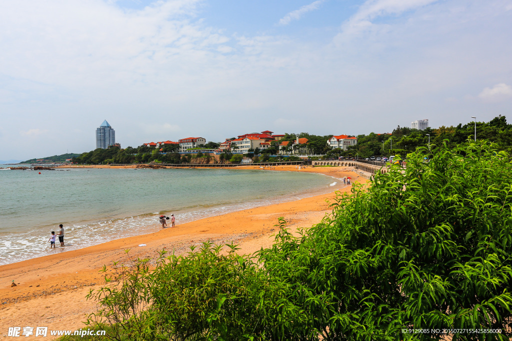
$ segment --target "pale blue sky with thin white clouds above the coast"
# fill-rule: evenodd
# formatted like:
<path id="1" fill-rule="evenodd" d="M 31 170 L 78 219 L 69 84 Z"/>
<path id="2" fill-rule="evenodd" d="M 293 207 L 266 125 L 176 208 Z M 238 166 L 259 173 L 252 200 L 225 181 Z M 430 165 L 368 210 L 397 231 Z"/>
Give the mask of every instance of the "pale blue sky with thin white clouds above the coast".
<path id="1" fill-rule="evenodd" d="M 2 0 L 0 160 L 512 122 L 512 0 Z"/>

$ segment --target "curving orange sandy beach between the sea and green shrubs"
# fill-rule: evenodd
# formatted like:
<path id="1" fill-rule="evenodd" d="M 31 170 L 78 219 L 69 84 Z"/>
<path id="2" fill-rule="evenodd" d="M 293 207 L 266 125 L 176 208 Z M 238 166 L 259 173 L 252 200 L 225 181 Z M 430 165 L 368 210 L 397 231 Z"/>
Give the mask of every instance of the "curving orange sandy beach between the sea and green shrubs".
<path id="1" fill-rule="evenodd" d="M 259 167 L 242 166 L 237 169 L 257 168 Z M 275 170 L 314 172 L 338 179 L 350 176 L 352 182 L 367 181 L 364 177 L 367 175 L 355 171 L 353 167 L 307 167 L 297 170 L 295 166 L 278 166 Z M 148 234 L 141 231 L 141 235 L 136 237 L 69 252 L 64 252 L 66 248 L 63 248 L 61 253 L 0 266 L 0 340 L 18 339 L 7 336 L 8 327 L 67 330 L 83 328 L 82 322 L 86 321 L 87 315 L 96 310 L 96 302 L 86 301 L 86 294 L 90 289 L 103 284 L 99 273 L 103 265 L 112 265 L 113 261 L 129 262 L 125 249 L 130 249 L 129 256 L 132 259 L 157 258 L 161 249 L 183 254 L 189 251 L 191 245 L 200 245 L 210 240 L 216 244 L 233 241 L 240 245 L 240 253 L 252 254 L 261 247 L 272 244 L 272 235 L 276 232 L 274 225 L 278 223 L 279 217 L 284 217 L 288 227 L 293 230 L 310 227 L 330 212 L 327 200 L 335 197 L 334 191 L 351 189 L 350 186 L 344 186 L 343 181 L 333 181 L 337 181 L 337 184 L 328 194 L 232 212 L 186 224 L 177 221 L 174 229 L 166 228 Z M 146 246 L 138 246 L 139 244 Z M 11 287 L 12 283 L 16 283 L 16 286 Z M 52 337 L 48 335 L 30 339 L 49 340 Z"/>

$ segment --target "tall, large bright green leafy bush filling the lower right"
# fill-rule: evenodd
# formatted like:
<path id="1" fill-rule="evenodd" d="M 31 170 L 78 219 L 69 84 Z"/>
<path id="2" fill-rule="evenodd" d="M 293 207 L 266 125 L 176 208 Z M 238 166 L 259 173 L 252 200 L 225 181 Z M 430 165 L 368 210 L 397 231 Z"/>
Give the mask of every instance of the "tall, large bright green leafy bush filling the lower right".
<path id="1" fill-rule="evenodd" d="M 509 339 L 512 165 L 485 143 L 418 149 L 367 191 L 354 185 L 304 234 L 260 261 L 292 285 L 325 339 L 437 339 L 402 329 L 501 329 Z"/>

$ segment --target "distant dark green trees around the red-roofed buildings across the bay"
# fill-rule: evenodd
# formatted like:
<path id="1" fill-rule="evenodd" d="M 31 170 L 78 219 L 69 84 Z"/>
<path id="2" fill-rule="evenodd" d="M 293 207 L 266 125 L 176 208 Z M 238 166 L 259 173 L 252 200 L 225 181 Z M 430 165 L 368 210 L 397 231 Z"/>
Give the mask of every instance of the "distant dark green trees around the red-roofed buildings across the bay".
<path id="1" fill-rule="evenodd" d="M 494 142 L 499 150 L 512 152 L 512 124 L 506 122 L 505 116 L 500 115 L 489 122 L 476 122 L 476 132 L 478 140 L 484 139 Z M 274 158 L 270 158 L 269 155 L 278 154 L 279 145 L 284 141 L 288 141 L 288 146 L 284 148 L 284 151 L 291 153 L 297 149 L 306 148 L 310 154 L 324 154 L 329 158 L 339 156 L 366 158 L 376 155 L 390 156 L 395 154 L 404 157 L 408 153 L 415 151 L 418 147 L 428 147 L 429 144 L 442 145 L 444 140 L 449 141 L 449 146 L 456 146 L 465 143 L 468 137 L 474 139 L 475 124 L 470 122 L 464 125 L 459 124 L 455 127 L 441 126 L 436 129 L 427 128 L 425 130 L 397 126 L 391 133 L 371 132 L 368 135 L 357 135 L 357 145 L 348 146 L 347 150 L 341 150 L 340 148 L 331 149 L 328 146 L 327 142 L 333 135 L 314 135 L 307 132 L 301 132 L 297 135 L 300 139 L 308 139 L 308 142 L 293 146 L 297 136 L 292 133 L 285 133 L 282 140 L 271 141 L 270 148 L 264 151 L 255 148 L 249 150 L 249 153 L 245 156 L 255 159 L 255 162 L 276 161 Z M 208 142 L 200 147 L 216 149 L 219 147 L 219 144 Z M 180 164 L 190 163 L 193 157 L 191 155 L 180 155 L 178 153 L 178 145 L 161 148 L 163 153 L 160 153 L 160 148 L 144 145 L 137 148 L 126 147 L 124 149 L 118 147 L 111 147 L 109 149 L 98 148 L 73 157 L 72 162 L 79 164 L 133 164 L 150 162 Z M 232 151 L 236 152 L 236 147 Z M 231 153 L 227 154 L 221 155 L 221 162 L 240 162 L 240 157 L 233 158 Z M 207 155 L 201 156 L 207 158 Z"/>

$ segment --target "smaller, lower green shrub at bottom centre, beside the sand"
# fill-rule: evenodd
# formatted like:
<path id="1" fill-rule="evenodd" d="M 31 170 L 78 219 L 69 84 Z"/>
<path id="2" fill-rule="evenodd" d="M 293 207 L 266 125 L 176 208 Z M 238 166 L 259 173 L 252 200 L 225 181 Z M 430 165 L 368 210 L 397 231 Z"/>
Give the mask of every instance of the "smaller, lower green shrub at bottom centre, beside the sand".
<path id="1" fill-rule="evenodd" d="M 300 332 L 305 314 L 287 300 L 287 285 L 227 246 L 227 255 L 211 243 L 186 257 L 162 251 L 152 272 L 147 259 L 117 272 L 104 268 L 111 285 L 88 295 L 101 306 L 88 324 L 114 326 L 101 336 L 112 340 L 257 340 Z"/>

